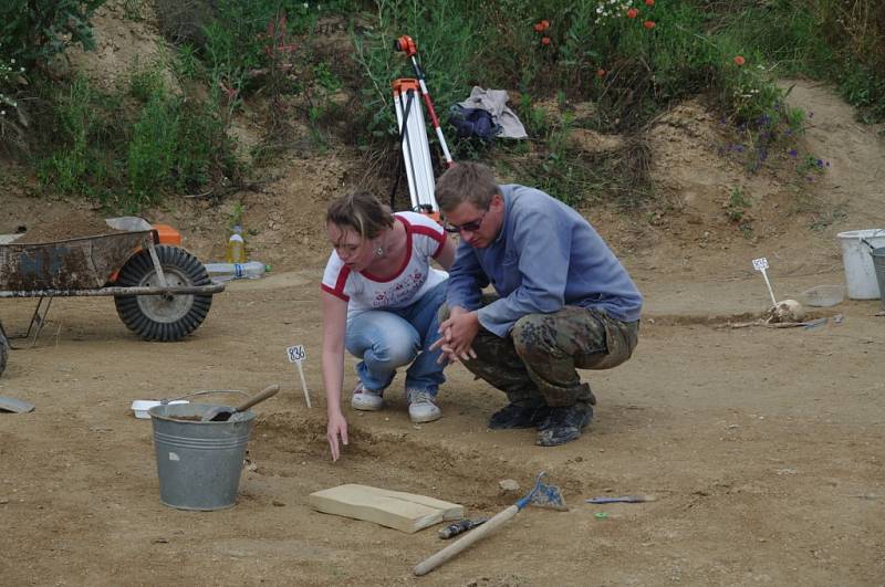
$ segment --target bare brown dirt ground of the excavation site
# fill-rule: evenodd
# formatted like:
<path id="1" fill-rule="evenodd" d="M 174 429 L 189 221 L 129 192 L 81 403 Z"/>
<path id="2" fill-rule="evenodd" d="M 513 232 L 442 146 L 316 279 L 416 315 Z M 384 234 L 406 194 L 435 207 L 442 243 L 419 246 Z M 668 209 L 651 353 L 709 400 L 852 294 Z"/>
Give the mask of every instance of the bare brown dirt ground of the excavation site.
<path id="1" fill-rule="evenodd" d="M 769 305 L 751 260 L 767 256 L 779 298 L 843 283 L 835 234 L 885 227 L 885 141 L 827 88 L 800 83 L 814 112 L 806 140 L 831 166 L 799 190 L 748 178 L 720 158 L 716 120 L 686 104 L 652 129 L 660 201 L 645 216 L 584 210 L 645 295 L 641 343 L 623 366 L 583 375 L 598 398 L 584 436 L 558 448 L 534 431 L 490 431 L 503 396 L 460 366 L 444 418 L 408 420 L 397 379 L 381 412 L 346 408 L 351 444 L 332 463 L 320 375 L 319 283 L 327 200 L 358 181 L 355 158 L 281 161 L 241 195 L 254 259 L 273 271 L 229 284 L 180 343 L 144 343 L 110 298 L 58 298 L 33 348 L 13 350 L 0 396 L 37 405 L 0 413 L 0 514 L 7 585 L 885 585 L 885 317 L 878 301 L 815 310 L 813 329 L 735 327 Z M 23 187 L 24 186 L 24 187 Z M 747 233 L 723 212 L 739 186 Z M 0 233 L 96 213 L 4 187 Z M 204 260 L 223 250 L 232 202 L 181 200 L 152 211 Z M 811 230 L 810 224 L 818 230 Z M 33 301 L 0 301 L 11 334 Z M 832 319 L 842 316 L 841 322 Z M 23 340 L 17 340 L 23 345 Z M 303 344 L 305 406 L 285 347 Z M 352 359 L 347 359 L 353 365 Z M 235 507 L 159 502 L 150 422 L 134 399 L 205 389 L 281 392 L 254 408 Z M 345 387 L 354 385 L 348 370 Z M 220 396 L 235 402 L 236 395 Z M 412 567 L 447 543 L 314 512 L 308 495 L 364 483 L 461 503 L 469 516 L 513 501 L 546 471 L 569 512 L 527 509 L 424 578 Z M 521 493 L 520 492 L 520 493 Z M 598 495 L 653 494 L 591 505 Z M 597 516 L 600 513 L 606 517 Z"/>

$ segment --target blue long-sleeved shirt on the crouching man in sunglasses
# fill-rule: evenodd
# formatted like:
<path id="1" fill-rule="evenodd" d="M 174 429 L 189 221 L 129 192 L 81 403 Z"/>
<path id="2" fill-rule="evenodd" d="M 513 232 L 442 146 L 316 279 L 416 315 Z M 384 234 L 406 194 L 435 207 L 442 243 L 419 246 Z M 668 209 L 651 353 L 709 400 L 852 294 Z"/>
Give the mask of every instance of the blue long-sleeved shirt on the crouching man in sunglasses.
<path id="1" fill-rule="evenodd" d="M 461 241 L 449 270 L 449 307 L 478 310 L 479 323 L 498 336 L 527 314 L 549 314 L 566 305 L 600 310 L 624 322 L 639 319 L 639 291 L 586 219 L 538 189 L 500 189 L 501 231 L 483 249 Z M 480 291 L 490 283 L 500 300 L 480 307 Z"/>

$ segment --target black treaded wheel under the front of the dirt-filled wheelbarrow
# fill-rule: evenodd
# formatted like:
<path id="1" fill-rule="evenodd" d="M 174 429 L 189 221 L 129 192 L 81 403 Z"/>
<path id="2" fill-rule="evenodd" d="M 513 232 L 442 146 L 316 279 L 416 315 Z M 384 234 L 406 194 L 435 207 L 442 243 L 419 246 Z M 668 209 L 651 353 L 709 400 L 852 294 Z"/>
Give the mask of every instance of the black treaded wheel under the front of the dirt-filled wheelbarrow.
<path id="1" fill-rule="evenodd" d="M 184 249 L 156 248 L 163 274 L 170 286 L 210 285 L 202 263 Z M 150 253 L 139 251 L 119 270 L 117 285 L 123 287 L 157 287 L 157 272 Z M 116 295 L 117 314 L 127 328 L 145 340 L 180 340 L 202 324 L 211 295 Z"/>

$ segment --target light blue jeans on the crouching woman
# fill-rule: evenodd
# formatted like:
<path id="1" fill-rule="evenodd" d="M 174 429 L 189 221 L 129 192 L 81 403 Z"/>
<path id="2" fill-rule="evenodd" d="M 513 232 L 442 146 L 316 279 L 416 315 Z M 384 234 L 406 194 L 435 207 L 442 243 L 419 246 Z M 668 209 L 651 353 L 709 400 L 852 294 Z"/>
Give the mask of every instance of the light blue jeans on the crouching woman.
<path id="1" fill-rule="evenodd" d="M 406 307 L 369 310 L 347 321 L 344 345 L 362 359 L 356 375 L 366 389 L 383 390 L 396 369 L 410 363 L 406 389 L 436 396 L 446 380 L 445 365 L 437 363 L 441 352 L 428 348 L 439 338 L 437 311 L 446 301 L 446 287 L 444 281 Z"/>

